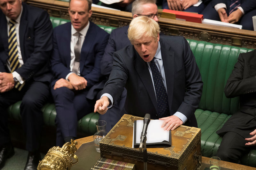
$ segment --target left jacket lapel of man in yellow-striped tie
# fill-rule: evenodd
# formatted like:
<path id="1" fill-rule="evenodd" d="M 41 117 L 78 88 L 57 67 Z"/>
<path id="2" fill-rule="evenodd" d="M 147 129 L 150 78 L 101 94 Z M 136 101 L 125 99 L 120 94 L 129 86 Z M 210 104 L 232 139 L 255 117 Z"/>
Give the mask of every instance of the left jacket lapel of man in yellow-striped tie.
<path id="1" fill-rule="evenodd" d="M 3 63 L 6 63 L 6 60 L 8 59 L 8 33 L 7 33 L 7 21 L 6 21 L 4 14 L 0 18 L 0 23 L 1 23 L 0 24 L 0 30 L 1 30 L 0 38 L 1 38 L 1 41 L 4 46 L 4 51 L 6 52 L 6 55 L 1 56 L 1 60 L 3 61 Z"/>

